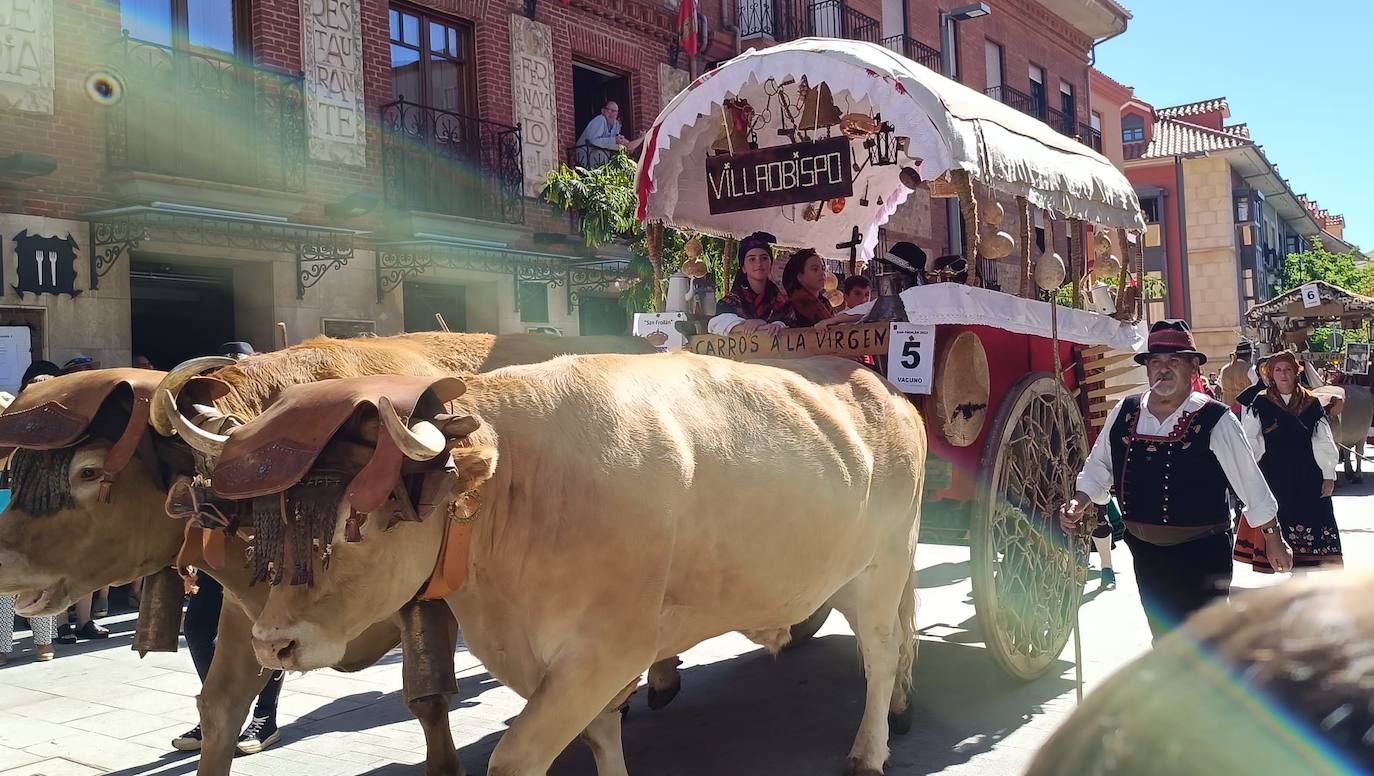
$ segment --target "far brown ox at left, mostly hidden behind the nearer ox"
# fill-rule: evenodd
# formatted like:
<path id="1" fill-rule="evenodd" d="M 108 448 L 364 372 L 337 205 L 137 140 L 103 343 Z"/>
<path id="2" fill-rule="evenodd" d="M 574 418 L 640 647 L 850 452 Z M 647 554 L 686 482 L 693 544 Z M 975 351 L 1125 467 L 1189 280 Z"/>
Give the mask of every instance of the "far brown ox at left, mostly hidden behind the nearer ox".
<path id="1" fill-rule="evenodd" d="M 591 350 L 647 353 L 653 347 L 639 338 L 319 338 L 239 363 L 192 360 L 170 374 L 99 369 L 30 386 L 0 415 L 0 445 L 19 448 L 11 461 L 15 500 L 0 521 L 0 595 L 21 593 L 19 608 L 26 614 L 56 613 L 87 592 L 174 562 L 184 525 L 166 518 L 166 489 L 172 477 L 194 474 L 195 461 L 183 440 L 147 433 L 150 422 L 165 434 L 174 430 L 150 400 L 157 390 L 179 393 L 206 369 L 223 367 L 216 372 L 217 398 L 194 385 L 187 398 L 225 429 L 254 418 L 291 385 L 370 374 L 473 374 Z M 224 584 L 231 606 L 221 611 L 220 647 L 198 698 L 205 733 L 201 776 L 229 772 L 238 732 L 267 678 L 250 647 L 250 618 L 267 593 L 249 585 L 246 547 L 231 540 L 225 551 L 221 567 L 210 570 Z M 338 667 L 367 667 L 398 640 L 397 618 L 382 618 L 349 646 Z M 426 731 L 427 773 L 460 773 L 447 699 L 409 705 Z"/>

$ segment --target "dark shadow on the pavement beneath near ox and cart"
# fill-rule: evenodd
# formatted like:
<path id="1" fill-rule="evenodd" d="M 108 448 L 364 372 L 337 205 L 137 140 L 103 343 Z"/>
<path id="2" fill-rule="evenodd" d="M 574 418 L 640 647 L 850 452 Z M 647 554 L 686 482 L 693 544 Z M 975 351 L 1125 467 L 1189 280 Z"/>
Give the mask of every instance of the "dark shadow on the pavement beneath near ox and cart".
<path id="1" fill-rule="evenodd" d="M 889 772 L 934 773 L 996 746 L 1069 689 L 1068 663 L 1030 684 L 1006 677 L 981 647 L 923 639 L 916 663 L 912 731 L 893 736 Z M 852 636 L 826 636 L 772 659 L 756 650 L 683 672 L 672 706 L 650 711 L 643 694 L 625 721 L 631 773 L 699 776 L 834 776 L 844 769 L 863 713 L 863 674 Z M 460 724 L 460 722 L 459 722 Z M 462 751 L 485 772 L 500 733 Z M 387 766 L 368 776 L 392 776 Z M 552 776 L 594 776 L 589 750 L 574 742 Z"/>

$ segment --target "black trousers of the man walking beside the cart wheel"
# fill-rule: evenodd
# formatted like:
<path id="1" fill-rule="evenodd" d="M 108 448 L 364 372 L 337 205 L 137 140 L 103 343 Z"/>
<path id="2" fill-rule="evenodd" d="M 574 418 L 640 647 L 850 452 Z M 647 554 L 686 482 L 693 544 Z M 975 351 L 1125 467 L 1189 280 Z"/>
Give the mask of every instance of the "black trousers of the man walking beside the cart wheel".
<path id="1" fill-rule="evenodd" d="M 1140 604 L 1156 641 L 1194 611 L 1230 595 L 1231 540 L 1232 533 L 1224 532 L 1160 547 L 1125 534 L 1135 560 Z"/>

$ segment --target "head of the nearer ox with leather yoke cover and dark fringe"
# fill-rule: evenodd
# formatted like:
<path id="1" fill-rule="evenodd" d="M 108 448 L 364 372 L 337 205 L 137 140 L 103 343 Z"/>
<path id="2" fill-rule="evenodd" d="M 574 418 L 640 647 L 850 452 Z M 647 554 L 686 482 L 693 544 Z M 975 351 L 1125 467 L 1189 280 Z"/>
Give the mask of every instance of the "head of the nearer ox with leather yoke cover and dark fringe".
<path id="1" fill-rule="evenodd" d="M 445 412 L 463 390 L 407 376 L 295 386 L 223 441 L 213 489 L 251 500 L 251 577 L 271 585 L 253 630 L 262 665 L 334 665 L 426 586 L 496 466 L 492 434 Z"/>

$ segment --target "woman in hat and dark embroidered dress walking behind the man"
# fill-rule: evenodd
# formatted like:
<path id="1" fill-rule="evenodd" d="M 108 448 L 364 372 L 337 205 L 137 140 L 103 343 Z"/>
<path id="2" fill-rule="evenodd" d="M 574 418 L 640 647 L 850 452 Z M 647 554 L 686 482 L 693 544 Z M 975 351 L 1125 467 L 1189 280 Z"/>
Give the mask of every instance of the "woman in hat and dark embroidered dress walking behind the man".
<path id="1" fill-rule="evenodd" d="M 1341 534 L 1336 526 L 1336 440 L 1322 402 L 1298 383 L 1297 357 L 1268 360 L 1270 385 L 1241 415 L 1260 471 L 1279 503 L 1279 526 L 1293 548 L 1293 569 L 1340 567 Z M 1241 521 L 1235 559 L 1272 573 L 1264 537 Z"/>

